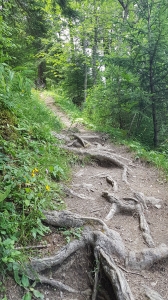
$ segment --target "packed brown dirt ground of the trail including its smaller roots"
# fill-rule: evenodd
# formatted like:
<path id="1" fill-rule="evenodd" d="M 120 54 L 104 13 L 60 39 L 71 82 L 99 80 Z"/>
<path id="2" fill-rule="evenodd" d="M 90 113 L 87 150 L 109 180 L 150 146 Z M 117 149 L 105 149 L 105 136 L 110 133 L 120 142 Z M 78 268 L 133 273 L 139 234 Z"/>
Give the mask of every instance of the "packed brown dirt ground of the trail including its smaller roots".
<path id="1" fill-rule="evenodd" d="M 52 98 L 44 100 L 65 125 L 61 134 L 53 134 L 62 141 L 63 148 L 81 157 L 73 166 L 71 182 L 63 187 L 68 211 L 66 217 L 80 220 L 81 225 L 77 226 L 78 229 L 69 226 L 69 230 L 79 236 L 79 240 L 72 241 L 77 242 L 73 244 L 76 251 L 71 252 L 71 243 L 66 244 L 57 229 L 58 224 L 51 221 L 46 213 L 51 233 L 45 237 L 47 247 L 39 249 L 37 257 L 46 258 L 47 268 L 39 267 L 43 284 L 38 284 L 36 288 L 44 294 L 45 300 L 168 299 L 168 185 L 164 174 L 130 153 L 126 146 L 111 143 L 107 135 L 88 131 L 77 123 L 71 124 L 60 108 L 54 105 Z M 62 216 L 57 218 L 62 222 L 59 224 L 64 224 Z M 95 239 L 98 239 L 109 229 L 114 234 L 115 242 L 119 239 L 118 243 L 122 244 L 121 251 L 116 244 L 116 253 L 112 251 L 112 259 L 117 266 L 112 271 L 117 292 L 115 287 L 111 287 L 112 279 L 107 270 L 112 266 L 111 258 L 106 259 L 107 266 L 103 269 L 103 259 L 100 257 L 104 255 L 105 258 L 101 250 L 105 253 L 110 244 L 103 239 L 99 244 L 91 241 L 92 245 L 96 245 L 91 247 L 88 240 L 86 242 L 88 231 L 89 234 L 93 231 Z M 83 232 L 85 242 L 81 240 Z M 111 236 L 108 233 L 106 237 L 110 240 Z M 89 239 L 92 237 L 89 236 Z M 81 246 L 77 244 L 80 240 Z M 59 260 L 61 251 L 69 253 L 67 256 L 63 254 L 62 263 Z M 109 255 L 110 251 L 107 249 L 106 254 Z M 136 253 L 139 256 L 135 263 Z M 50 261 L 58 259 L 58 263 L 49 266 L 47 257 L 52 257 Z M 32 260 L 31 264 L 36 270 L 38 259 Z M 122 277 L 119 282 L 117 276 Z M 56 282 L 63 285 L 59 288 Z M 68 288 L 73 291 L 68 291 Z M 11 279 L 6 295 L 8 300 L 21 300 L 23 291 Z"/>

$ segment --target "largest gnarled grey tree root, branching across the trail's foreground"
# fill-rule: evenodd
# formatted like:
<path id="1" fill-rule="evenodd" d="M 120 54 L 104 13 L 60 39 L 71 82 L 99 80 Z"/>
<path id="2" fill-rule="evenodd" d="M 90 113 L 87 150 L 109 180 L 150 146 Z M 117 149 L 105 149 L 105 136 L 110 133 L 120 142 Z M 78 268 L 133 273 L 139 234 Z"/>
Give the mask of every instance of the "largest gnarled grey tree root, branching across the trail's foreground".
<path id="1" fill-rule="evenodd" d="M 47 283 L 56 287 L 61 291 L 69 293 L 82 294 L 91 297 L 92 300 L 97 299 L 99 276 L 103 272 L 110 283 L 110 294 L 105 291 L 102 299 L 116 300 L 134 300 L 134 296 L 130 290 L 127 280 L 125 279 L 121 265 L 118 267 L 116 261 L 125 264 L 127 267 L 135 270 L 142 270 L 150 267 L 154 262 L 168 257 L 168 247 L 160 245 L 156 248 L 144 249 L 140 252 L 126 251 L 124 243 L 120 235 L 110 230 L 107 225 L 97 218 L 82 217 L 67 211 L 62 212 L 44 212 L 46 215 L 45 222 L 56 227 L 79 227 L 84 226 L 85 229 L 79 240 L 74 240 L 64 246 L 56 255 L 41 259 L 32 259 L 27 265 L 27 275 L 32 280 L 38 280 L 41 283 Z M 100 226 L 99 230 L 94 227 Z M 90 246 L 95 256 L 96 269 L 94 274 L 94 283 L 92 290 L 78 291 L 69 287 L 60 281 L 47 278 L 40 273 L 52 267 L 59 268 L 71 255 L 80 249 Z M 145 292 L 146 295 L 149 292 Z M 91 295 L 91 296 L 90 296 Z M 112 296 L 113 295 L 113 296 Z M 154 293 L 153 293 L 154 295 Z M 101 299 L 101 297 L 100 297 Z M 161 300 L 162 298 L 149 298 L 151 300 Z M 163 300 L 163 299 L 162 299 Z"/>

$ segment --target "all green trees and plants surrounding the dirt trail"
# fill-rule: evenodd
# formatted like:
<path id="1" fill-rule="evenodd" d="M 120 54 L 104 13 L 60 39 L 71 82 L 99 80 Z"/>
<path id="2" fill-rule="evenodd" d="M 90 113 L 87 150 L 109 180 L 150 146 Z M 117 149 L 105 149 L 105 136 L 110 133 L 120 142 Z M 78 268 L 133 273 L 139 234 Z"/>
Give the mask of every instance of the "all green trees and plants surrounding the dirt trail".
<path id="1" fill-rule="evenodd" d="M 47 232 L 42 210 L 62 208 L 72 160 L 33 88 L 168 170 L 167 15 L 165 0 L 0 1 L 2 274 L 16 275 L 17 244 Z"/>

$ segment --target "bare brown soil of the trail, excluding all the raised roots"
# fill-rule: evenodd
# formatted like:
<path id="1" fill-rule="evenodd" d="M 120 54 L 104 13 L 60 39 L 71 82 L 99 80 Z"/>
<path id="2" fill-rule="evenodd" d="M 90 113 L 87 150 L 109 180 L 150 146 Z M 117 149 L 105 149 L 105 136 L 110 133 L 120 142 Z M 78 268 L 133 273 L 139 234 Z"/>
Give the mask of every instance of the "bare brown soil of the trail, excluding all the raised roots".
<path id="1" fill-rule="evenodd" d="M 149 163 L 136 159 L 135 155 L 126 146 L 115 145 L 110 142 L 107 136 L 102 133 L 89 132 L 82 125 L 73 124 L 61 109 L 54 105 L 53 99 L 44 99 L 46 105 L 64 123 L 65 129 L 60 134 L 60 139 L 69 137 L 69 134 L 82 134 L 82 138 L 92 136 L 90 143 L 95 145 L 95 149 L 109 149 L 110 153 L 129 166 L 126 184 L 122 180 L 122 170 L 116 165 L 108 162 L 100 163 L 98 160 L 88 160 L 88 163 L 81 160 L 72 169 L 72 181 L 66 191 L 65 203 L 67 210 L 85 217 L 94 217 L 101 220 L 106 219 L 111 203 L 102 197 L 103 191 L 114 194 L 113 186 L 107 182 L 107 176 L 113 178 L 118 184 L 115 196 L 119 199 L 133 197 L 133 192 L 142 192 L 147 197 L 155 197 L 161 201 L 145 209 L 144 214 L 155 246 L 164 243 L 168 245 L 168 185 L 164 174 L 151 166 Z M 57 136 L 58 137 L 58 136 Z M 79 147 L 81 145 L 78 145 Z M 97 148 L 96 148 L 97 147 Z M 95 150 L 96 151 L 96 150 Z M 140 251 L 147 248 L 139 228 L 139 220 L 136 214 L 118 213 L 112 219 L 105 221 L 110 229 L 117 231 L 122 237 L 128 251 Z M 48 247 L 38 251 L 38 257 L 53 255 L 66 244 L 65 238 L 59 234 L 57 229 L 51 227 L 52 232 L 45 237 Z M 146 298 L 144 286 L 158 292 L 162 298 L 168 299 L 168 259 L 162 259 L 152 264 L 148 269 L 131 271 L 122 265 L 124 276 L 130 286 L 135 300 L 145 300 L 156 298 Z M 70 256 L 62 265 L 53 267 L 45 271 L 45 276 L 50 279 L 59 280 L 62 283 L 73 287 L 76 290 L 84 291 L 92 289 L 92 277 L 95 269 L 95 259 L 90 247 L 78 250 Z M 103 274 L 101 282 L 105 281 Z M 108 290 L 108 282 L 105 283 Z M 38 284 L 36 288 L 44 294 L 45 300 L 65 299 L 83 300 L 91 299 L 83 294 L 73 294 L 59 291 L 50 285 Z M 7 299 L 21 300 L 23 290 L 14 284 L 12 279 L 7 283 Z M 0 299 L 2 299 L 0 297 Z M 109 298 L 105 295 L 97 296 L 96 299 L 116 299 L 113 294 Z M 159 298 L 157 298 L 159 299 Z M 125 298 L 123 298 L 125 300 Z"/>

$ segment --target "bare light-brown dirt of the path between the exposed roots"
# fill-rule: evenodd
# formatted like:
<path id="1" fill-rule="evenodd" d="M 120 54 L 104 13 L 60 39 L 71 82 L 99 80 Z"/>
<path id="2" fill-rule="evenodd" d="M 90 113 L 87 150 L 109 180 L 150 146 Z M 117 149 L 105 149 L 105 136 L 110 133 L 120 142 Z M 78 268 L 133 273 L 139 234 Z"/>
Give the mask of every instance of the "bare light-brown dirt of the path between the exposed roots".
<path id="1" fill-rule="evenodd" d="M 69 119 L 60 109 L 55 107 L 52 99 L 45 99 L 45 101 L 47 106 L 60 117 L 66 129 L 71 128 L 73 130 Z M 111 153 L 117 155 L 121 161 L 129 166 L 130 170 L 128 171 L 127 179 L 129 184 L 126 184 L 122 180 L 121 169 L 114 165 L 109 165 L 105 161 L 100 163 L 94 160 L 89 164 L 76 166 L 73 169 L 73 179 L 69 186 L 71 192 L 67 193 L 65 200 L 67 209 L 82 216 L 96 217 L 104 220 L 110 211 L 111 203 L 105 201 L 102 197 L 102 191 L 114 193 L 114 188 L 107 182 L 107 176 L 112 177 L 118 185 L 115 196 L 119 199 L 132 197 L 133 192 L 141 192 L 145 196 L 161 199 L 155 205 L 148 205 L 148 208 L 145 209 L 145 217 L 150 227 L 155 246 L 159 246 L 161 243 L 168 244 L 168 187 L 161 173 L 148 164 L 135 160 L 125 146 L 111 144 L 102 134 L 98 135 L 97 133 L 88 132 L 83 127 L 77 128 L 77 130 L 80 134 L 82 133 L 82 138 L 85 140 L 87 140 L 88 136 L 92 136 L 89 142 L 95 145 L 95 149 L 101 148 L 103 151 L 108 148 Z M 64 134 L 66 135 L 65 131 Z M 81 145 L 76 146 L 80 147 Z M 128 250 L 138 251 L 146 247 L 142 232 L 139 229 L 139 221 L 136 214 L 116 214 L 106 224 L 109 228 L 117 230 L 120 233 Z M 88 261 L 84 256 L 81 258 L 78 253 L 77 257 L 73 258 L 73 262 L 71 262 L 71 275 L 64 282 L 70 286 L 84 290 L 88 284 L 86 275 L 89 267 Z M 66 272 L 66 277 L 68 277 L 68 270 Z M 158 292 L 163 299 L 168 299 L 167 259 L 154 263 L 148 270 L 143 270 L 140 273 L 137 272 L 137 274 L 134 274 L 134 272 L 131 273 L 128 271 L 128 273 L 125 272 L 124 274 L 136 300 L 146 299 L 143 288 L 145 285 Z M 50 296 L 49 299 L 55 298 L 54 296 Z M 58 296 L 57 299 L 62 298 Z M 63 299 L 80 299 L 80 297 L 78 298 L 76 295 L 75 297 L 64 295 Z"/>

